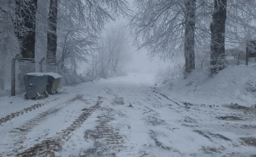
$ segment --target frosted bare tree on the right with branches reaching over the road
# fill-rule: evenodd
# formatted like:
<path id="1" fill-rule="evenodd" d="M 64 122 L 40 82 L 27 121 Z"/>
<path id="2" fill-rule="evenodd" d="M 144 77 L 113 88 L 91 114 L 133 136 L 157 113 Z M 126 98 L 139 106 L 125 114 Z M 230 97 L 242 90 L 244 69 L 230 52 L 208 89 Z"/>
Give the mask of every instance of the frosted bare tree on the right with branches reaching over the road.
<path id="1" fill-rule="evenodd" d="M 196 9 L 202 7 L 200 2 L 196 5 L 196 0 L 135 0 L 138 10 L 130 21 L 138 48 L 146 47 L 150 57 L 172 61 L 183 51 L 185 73 L 191 73 L 195 68 L 195 33 L 205 31 L 196 32 Z"/>

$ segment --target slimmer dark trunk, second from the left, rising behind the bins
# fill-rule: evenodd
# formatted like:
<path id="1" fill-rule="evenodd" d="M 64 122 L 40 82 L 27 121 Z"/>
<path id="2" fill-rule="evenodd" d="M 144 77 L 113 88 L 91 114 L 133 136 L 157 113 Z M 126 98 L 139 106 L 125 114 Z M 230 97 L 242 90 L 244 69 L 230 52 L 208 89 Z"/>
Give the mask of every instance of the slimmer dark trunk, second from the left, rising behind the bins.
<path id="1" fill-rule="evenodd" d="M 47 32 L 47 54 L 46 59 L 56 63 L 57 50 L 57 12 L 58 0 L 50 0 Z"/>

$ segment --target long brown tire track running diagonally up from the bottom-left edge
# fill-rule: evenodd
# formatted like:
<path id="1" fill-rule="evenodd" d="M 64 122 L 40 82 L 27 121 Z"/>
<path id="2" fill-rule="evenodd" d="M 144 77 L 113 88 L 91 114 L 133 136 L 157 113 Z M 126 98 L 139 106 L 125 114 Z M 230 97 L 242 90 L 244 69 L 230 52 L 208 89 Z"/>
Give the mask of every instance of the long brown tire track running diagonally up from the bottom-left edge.
<path id="1" fill-rule="evenodd" d="M 26 149 L 22 153 L 17 154 L 21 157 L 45 157 L 51 156 L 54 157 L 54 152 L 58 152 L 62 149 L 62 145 L 71 137 L 71 133 L 76 129 L 80 128 L 85 120 L 97 110 L 103 101 L 98 100 L 95 105 L 89 107 L 88 109 L 83 109 L 83 113 L 76 118 L 71 125 L 66 129 L 62 130 L 60 133 L 57 133 L 55 137 L 48 138 L 42 142 L 35 144 L 33 147 Z"/>

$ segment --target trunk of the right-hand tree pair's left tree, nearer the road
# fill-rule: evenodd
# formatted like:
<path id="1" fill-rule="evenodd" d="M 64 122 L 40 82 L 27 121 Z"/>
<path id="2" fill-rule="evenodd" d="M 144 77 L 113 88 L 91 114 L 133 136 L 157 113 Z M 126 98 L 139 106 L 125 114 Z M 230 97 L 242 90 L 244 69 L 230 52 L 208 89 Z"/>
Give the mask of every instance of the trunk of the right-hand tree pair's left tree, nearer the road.
<path id="1" fill-rule="evenodd" d="M 196 0 L 185 0 L 185 76 L 195 68 L 194 34 L 195 34 L 195 3 Z"/>

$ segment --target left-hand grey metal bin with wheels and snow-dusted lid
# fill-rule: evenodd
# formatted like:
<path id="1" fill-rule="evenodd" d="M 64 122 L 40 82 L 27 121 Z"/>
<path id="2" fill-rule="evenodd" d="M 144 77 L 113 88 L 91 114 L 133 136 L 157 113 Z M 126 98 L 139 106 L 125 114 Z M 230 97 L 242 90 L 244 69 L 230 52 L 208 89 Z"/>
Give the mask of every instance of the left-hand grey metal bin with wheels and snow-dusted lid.
<path id="1" fill-rule="evenodd" d="M 25 84 L 25 98 L 39 98 L 44 95 L 48 97 L 46 92 L 47 76 L 43 73 L 27 73 L 23 77 Z"/>

